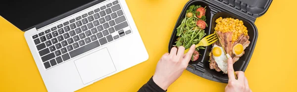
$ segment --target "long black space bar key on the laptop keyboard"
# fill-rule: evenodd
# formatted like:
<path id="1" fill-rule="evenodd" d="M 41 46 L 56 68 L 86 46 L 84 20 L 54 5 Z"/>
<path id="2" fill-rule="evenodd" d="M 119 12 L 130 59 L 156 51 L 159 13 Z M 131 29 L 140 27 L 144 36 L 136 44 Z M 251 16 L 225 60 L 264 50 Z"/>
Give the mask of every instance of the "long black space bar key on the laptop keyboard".
<path id="1" fill-rule="evenodd" d="M 94 49 L 94 48 L 96 48 L 98 46 L 100 46 L 99 42 L 95 41 L 95 42 L 92 42 L 92 43 L 90 43 L 90 44 L 88 44 L 86 46 L 81 46 L 81 47 L 79 47 L 77 49 L 74 49 L 73 51 L 70 51 L 69 54 L 70 54 L 71 57 L 75 57 L 75 56 L 80 55 L 80 54 L 82 54 L 84 52 L 87 52 L 87 51 L 89 51 L 91 49 Z"/>

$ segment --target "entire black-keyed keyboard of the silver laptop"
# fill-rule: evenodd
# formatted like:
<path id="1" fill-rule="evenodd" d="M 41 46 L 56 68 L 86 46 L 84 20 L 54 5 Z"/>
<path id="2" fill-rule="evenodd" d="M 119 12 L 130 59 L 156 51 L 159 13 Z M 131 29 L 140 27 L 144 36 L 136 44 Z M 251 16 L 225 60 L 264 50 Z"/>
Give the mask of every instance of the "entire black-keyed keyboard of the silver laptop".
<path id="1" fill-rule="evenodd" d="M 127 34 L 118 0 L 32 36 L 46 69 Z M 116 33 L 115 33 L 116 32 Z M 111 34 L 116 35 L 111 35 Z"/>

